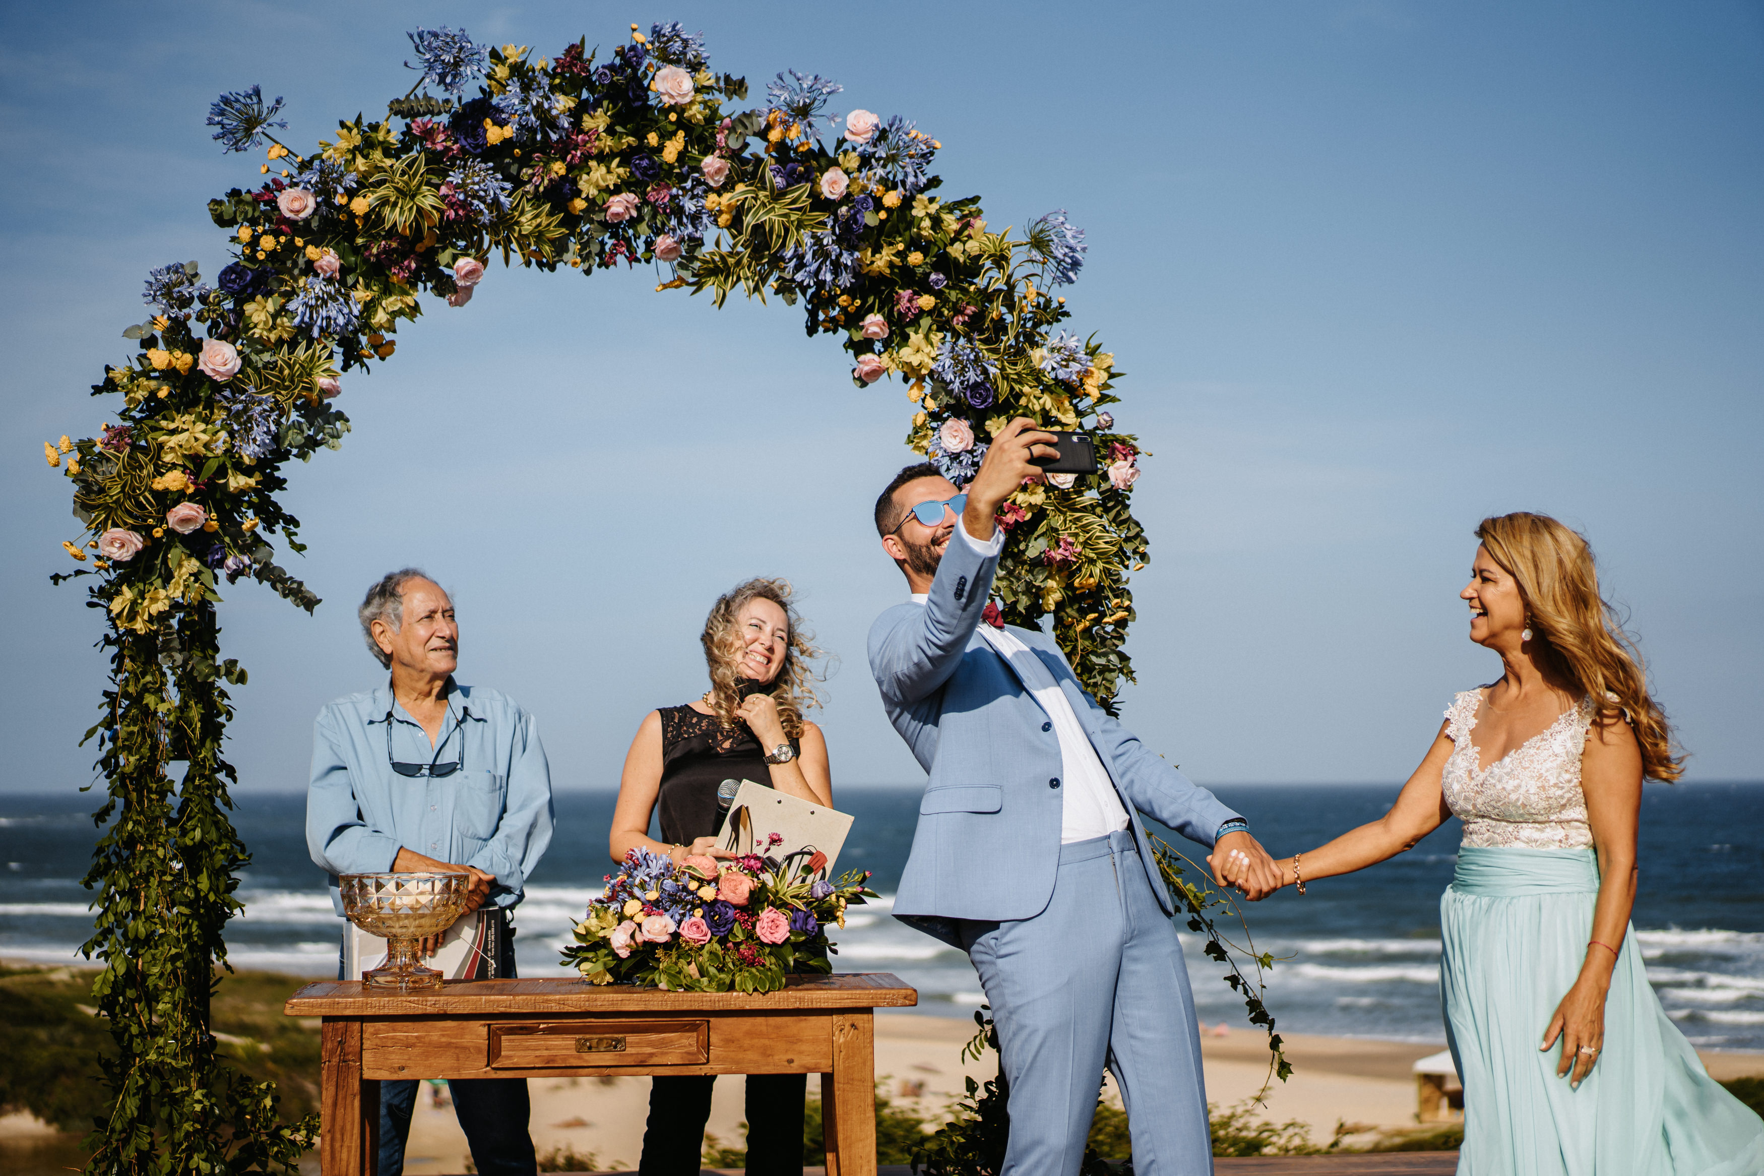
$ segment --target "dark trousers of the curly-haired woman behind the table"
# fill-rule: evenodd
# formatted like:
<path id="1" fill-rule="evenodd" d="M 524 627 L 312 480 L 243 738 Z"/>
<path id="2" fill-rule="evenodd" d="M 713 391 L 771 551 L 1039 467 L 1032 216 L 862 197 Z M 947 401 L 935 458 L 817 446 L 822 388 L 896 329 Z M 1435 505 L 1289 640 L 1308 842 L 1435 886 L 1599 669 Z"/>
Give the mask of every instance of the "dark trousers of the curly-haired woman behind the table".
<path id="1" fill-rule="evenodd" d="M 699 1176 L 714 1074 L 649 1081 L 649 1123 L 639 1176 Z M 806 1074 L 748 1076 L 748 1171 L 803 1176 Z"/>

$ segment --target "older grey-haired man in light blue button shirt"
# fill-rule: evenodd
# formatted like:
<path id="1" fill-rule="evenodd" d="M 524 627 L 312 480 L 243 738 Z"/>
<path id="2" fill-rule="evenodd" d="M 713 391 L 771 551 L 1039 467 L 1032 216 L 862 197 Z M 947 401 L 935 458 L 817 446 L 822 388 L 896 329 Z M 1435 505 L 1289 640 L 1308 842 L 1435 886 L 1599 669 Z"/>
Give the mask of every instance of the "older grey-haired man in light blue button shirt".
<path id="1" fill-rule="evenodd" d="M 515 975 L 508 912 L 550 843 L 552 799 L 533 716 L 512 698 L 453 681 L 459 624 L 448 594 L 415 568 L 369 589 L 362 635 L 392 679 L 339 698 L 312 728 L 307 848 L 337 875 L 471 875 L 466 919 L 492 915 L 494 973 Z M 480 1172 L 536 1171 L 524 1079 L 450 1083 Z M 379 1084 L 379 1176 L 404 1171 L 416 1083 Z"/>

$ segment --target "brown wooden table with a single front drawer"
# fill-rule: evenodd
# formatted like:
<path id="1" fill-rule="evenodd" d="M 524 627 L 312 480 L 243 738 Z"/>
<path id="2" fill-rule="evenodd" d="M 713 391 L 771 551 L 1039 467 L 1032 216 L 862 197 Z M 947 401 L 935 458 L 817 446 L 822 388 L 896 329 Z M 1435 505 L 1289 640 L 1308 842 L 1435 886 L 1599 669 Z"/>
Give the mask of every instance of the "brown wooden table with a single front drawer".
<path id="1" fill-rule="evenodd" d="M 381 1081 L 605 1074 L 820 1074 L 827 1176 L 875 1176 L 875 1010 L 917 1003 L 875 971 L 792 977 L 759 994 L 586 980 L 448 980 L 397 994 L 323 980 L 282 1012 L 323 1017 L 325 1176 L 374 1171 Z"/>

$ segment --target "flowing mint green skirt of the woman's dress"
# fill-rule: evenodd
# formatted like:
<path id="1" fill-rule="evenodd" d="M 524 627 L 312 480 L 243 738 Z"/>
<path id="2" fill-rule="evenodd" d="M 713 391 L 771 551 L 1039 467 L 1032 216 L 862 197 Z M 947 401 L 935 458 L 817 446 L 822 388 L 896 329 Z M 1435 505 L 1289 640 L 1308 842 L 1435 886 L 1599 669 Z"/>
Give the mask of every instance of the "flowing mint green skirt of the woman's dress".
<path id="1" fill-rule="evenodd" d="M 1759 1176 L 1764 1120 L 1697 1060 L 1625 934 L 1605 1044 L 1579 1090 L 1542 1053 L 1581 975 L 1593 850 L 1464 848 L 1439 899 L 1446 1040 L 1464 1081 L 1459 1176 Z"/>

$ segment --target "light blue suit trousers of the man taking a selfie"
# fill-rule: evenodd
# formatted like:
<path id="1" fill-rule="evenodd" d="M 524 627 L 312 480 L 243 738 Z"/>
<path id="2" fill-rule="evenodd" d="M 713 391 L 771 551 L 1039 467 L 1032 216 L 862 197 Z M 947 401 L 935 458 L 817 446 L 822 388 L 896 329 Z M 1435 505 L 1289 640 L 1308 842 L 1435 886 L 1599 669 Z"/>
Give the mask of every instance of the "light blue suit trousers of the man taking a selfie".
<path id="1" fill-rule="evenodd" d="M 1207 1084 L 1182 945 L 1132 830 L 1060 846 L 1034 919 L 965 922 L 1011 1083 L 1000 1176 L 1078 1172 L 1108 1065 L 1140 1176 L 1208 1176 Z"/>

